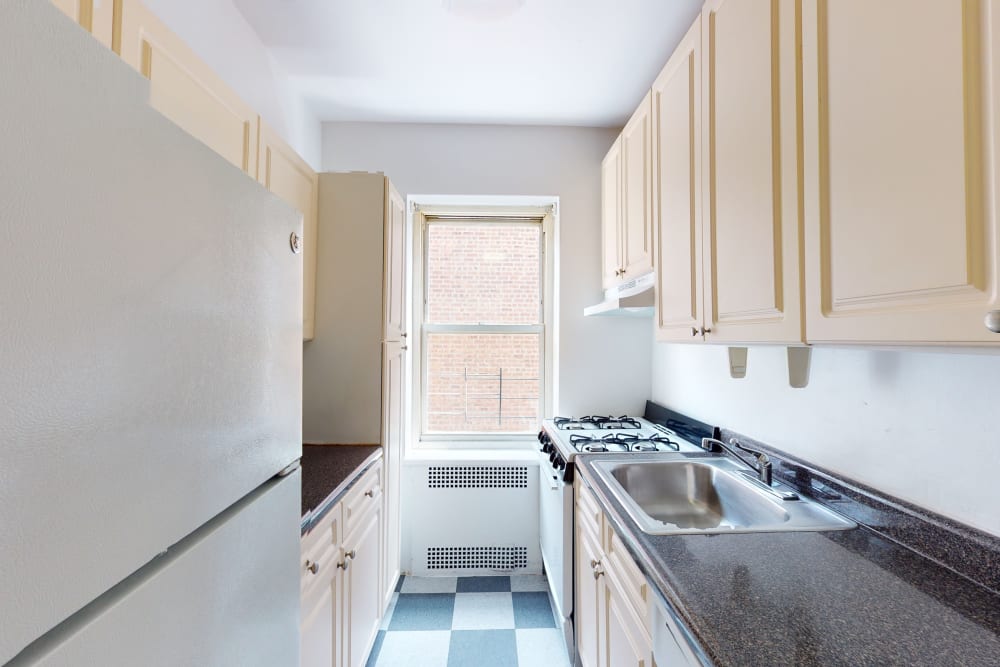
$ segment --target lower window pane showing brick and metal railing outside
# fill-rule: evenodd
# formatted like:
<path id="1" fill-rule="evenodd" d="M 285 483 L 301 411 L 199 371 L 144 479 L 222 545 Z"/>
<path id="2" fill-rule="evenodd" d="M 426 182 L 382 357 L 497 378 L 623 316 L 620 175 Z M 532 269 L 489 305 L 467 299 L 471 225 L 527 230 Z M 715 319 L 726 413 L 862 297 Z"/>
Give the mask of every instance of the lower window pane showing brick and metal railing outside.
<path id="1" fill-rule="evenodd" d="M 428 334 L 427 431 L 538 428 L 541 334 Z"/>

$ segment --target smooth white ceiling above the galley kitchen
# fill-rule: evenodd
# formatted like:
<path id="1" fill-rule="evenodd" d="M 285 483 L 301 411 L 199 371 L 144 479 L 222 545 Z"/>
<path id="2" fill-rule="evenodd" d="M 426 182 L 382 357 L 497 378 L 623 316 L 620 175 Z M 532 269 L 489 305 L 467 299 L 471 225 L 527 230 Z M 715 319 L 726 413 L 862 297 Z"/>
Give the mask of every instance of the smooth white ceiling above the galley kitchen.
<path id="1" fill-rule="evenodd" d="M 320 120 L 617 127 L 702 0 L 233 0 Z M 485 2 L 488 0 L 468 0 Z"/>

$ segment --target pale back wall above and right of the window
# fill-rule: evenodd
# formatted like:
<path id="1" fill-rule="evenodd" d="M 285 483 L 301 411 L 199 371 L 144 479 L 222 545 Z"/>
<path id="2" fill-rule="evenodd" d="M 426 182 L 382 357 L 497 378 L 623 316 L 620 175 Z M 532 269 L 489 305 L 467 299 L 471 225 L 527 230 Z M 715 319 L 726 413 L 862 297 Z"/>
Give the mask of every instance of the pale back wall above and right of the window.
<path id="1" fill-rule="evenodd" d="M 582 314 L 602 296 L 600 163 L 617 134 L 565 127 L 324 123 L 323 169 L 384 171 L 404 197 L 559 196 L 560 368 L 554 413 L 635 414 L 649 397 L 651 320 Z M 322 307 L 319 295 L 316 308 Z"/>

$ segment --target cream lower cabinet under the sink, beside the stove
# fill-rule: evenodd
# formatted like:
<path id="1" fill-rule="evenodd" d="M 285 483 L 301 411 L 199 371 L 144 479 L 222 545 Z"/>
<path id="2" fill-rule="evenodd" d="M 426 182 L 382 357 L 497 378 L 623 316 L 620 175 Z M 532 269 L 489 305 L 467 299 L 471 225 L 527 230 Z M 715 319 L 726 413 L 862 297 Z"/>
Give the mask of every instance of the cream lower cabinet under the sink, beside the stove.
<path id="1" fill-rule="evenodd" d="M 651 667 L 648 584 L 576 482 L 576 650 L 582 667 Z"/>

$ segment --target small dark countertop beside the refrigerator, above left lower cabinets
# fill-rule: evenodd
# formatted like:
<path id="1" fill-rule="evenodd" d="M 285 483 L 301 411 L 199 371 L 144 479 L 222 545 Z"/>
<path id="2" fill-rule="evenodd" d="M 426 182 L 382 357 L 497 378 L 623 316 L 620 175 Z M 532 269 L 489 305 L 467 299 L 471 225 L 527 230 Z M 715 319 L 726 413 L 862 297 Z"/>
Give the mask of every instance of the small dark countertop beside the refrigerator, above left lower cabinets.
<path id="1" fill-rule="evenodd" d="M 382 457 L 378 445 L 302 446 L 302 532 Z"/>

